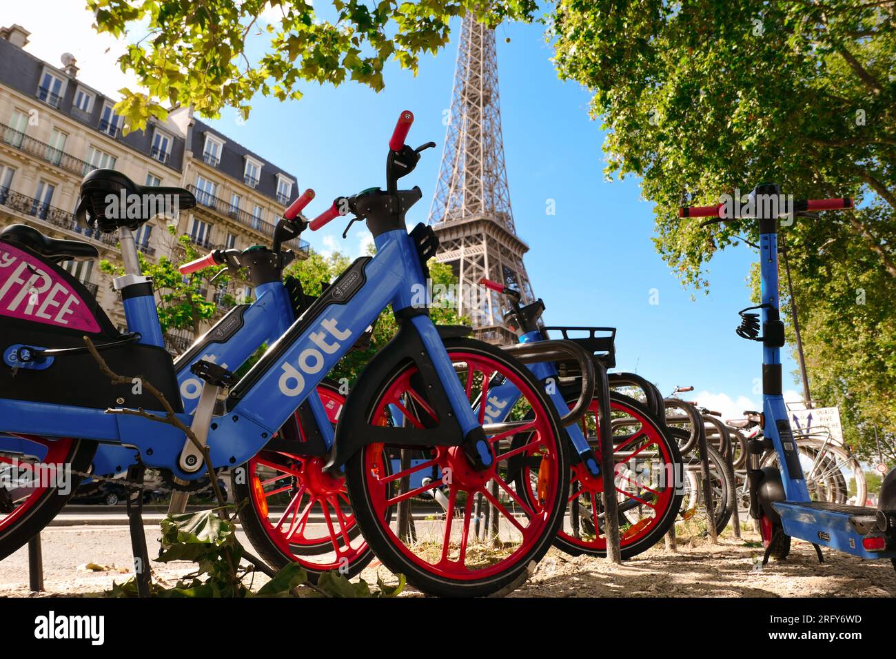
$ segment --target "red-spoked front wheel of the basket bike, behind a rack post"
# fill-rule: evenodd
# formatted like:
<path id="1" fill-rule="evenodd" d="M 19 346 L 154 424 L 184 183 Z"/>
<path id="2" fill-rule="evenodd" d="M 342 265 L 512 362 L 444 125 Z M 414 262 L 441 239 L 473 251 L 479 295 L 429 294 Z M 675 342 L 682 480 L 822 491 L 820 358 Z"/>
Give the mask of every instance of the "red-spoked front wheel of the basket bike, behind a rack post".
<path id="1" fill-rule="evenodd" d="M 599 403 L 592 401 L 580 421 L 582 434 L 599 455 Z M 659 428 L 650 413 L 625 395 L 610 398 L 619 545 L 624 559 L 647 551 L 675 523 L 683 490 L 681 455 L 674 438 Z M 582 463 L 573 465 L 563 528 L 556 546 L 568 553 L 607 555 L 602 496 L 604 478 Z"/>

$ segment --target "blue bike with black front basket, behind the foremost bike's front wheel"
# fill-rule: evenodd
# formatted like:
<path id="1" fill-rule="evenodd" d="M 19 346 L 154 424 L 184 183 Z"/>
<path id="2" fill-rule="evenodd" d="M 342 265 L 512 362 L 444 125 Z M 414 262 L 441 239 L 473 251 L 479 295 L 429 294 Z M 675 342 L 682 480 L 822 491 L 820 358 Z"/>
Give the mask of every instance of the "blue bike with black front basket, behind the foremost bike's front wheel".
<path id="1" fill-rule="evenodd" d="M 565 339 L 582 345 L 598 363 L 606 362 L 607 357 L 612 356 L 612 337 L 598 335 L 609 328 L 542 327 L 539 319 L 545 304 L 541 299 L 521 307 L 519 291 L 487 279 L 479 283 L 505 296 L 510 309 L 504 316 L 504 322 L 518 334 L 522 345 L 548 342 L 547 331 L 556 329 Z M 572 338 L 575 330 L 588 335 Z M 611 361 L 607 365 L 614 364 Z M 568 386 L 560 386 L 561 373 L 557 363 L 539 361 L 530 364 L 529 368 L 538 381 L 545 384 L 557 412 L 568 412 L 573 396 Z M 564 368 L 564 375 L 572 375 L 568 372 L 570 370 L 573 369 Z M 636 384 L 643 387 L 642 383 Z M 650 390 L 650 386 L 646 390 Z M 512 407 L 518 395 L 519 392 L 511 386 L 493 386 L 489 389 L 491 409 L 497 412 L 495 421 L 505 418 L 498 411 Z M 611 422 L 602 426 L 600 420 L 605 416 Z M 604 428 L 609 429 L 608 434 L 613 442 L 616 470 L 613 481 L 620 552 L 622 558 L 628 559 L 649 550 L 675 523 L 683 497 L 682 488 L 676 486 L 677 475 L 683 471 L 682 459 L 675 439 L 662 428 L 649 408 L 616 392 L 609 394 L 608 404 L 601 405 L 599 397 L 592 398 L 582 420 L 566 427 L 568 440 L 574 449 L 571 451 L 569 473 L 572 491 L 564 525 L 559 529 L 554 544 L 573 556 L 583 553 L 607 555 L 605 513 L 601 501 L 607 479 L 600 472 L 599 462 L 595 458 Z M 527 459 L 526 464 L 521 464 L 517 482 L 521 486 L 527 479 L 536 479 L 537 475 L 538 458 Z"/>

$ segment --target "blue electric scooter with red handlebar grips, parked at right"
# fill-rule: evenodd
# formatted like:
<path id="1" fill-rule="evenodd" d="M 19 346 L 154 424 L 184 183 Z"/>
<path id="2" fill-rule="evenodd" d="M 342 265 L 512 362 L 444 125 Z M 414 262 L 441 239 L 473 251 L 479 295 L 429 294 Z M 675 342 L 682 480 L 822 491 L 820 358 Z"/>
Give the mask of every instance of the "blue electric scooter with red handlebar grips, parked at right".
<path id="1" fill-rule="evenodd" d="M 819 560 L 823 559 L 823 545 L 863 559 L 893 559 L 896 567 L 896 470 L 891 470 L 883 480 L 877 508 L 813 501 L 782 395 L 780 349 L 785 340 L 779 313 L 778 219 L 798 215 L 817 220 L 814 211 L 850 209 L 852 200 L 793 200 L 781 195 L 776 184 L 756 186 L 750 196 L 753 203 L 748 203 L 746 212 L 738 218 L 732 218 L 724 204 L 684 207 L 679 214 L 718 218 L 703 225 L 742 218 L 754 219 L 759 224 L 762 303 L 739 312 L 741 325 L 737 334 L 762 343 L 763 437 L 748 442 L 747 478 L 750 515 L 759 520 L 766 546 L 764 561 L 770 557 L 785 558 L 790 551 L 790 538 L 794 537 L 811 542 Z M 761 314 L 750 313 L 757 308 Z M 777 467 L 760 468 L 759 460 L 766 450 L 778 456 Z"/>

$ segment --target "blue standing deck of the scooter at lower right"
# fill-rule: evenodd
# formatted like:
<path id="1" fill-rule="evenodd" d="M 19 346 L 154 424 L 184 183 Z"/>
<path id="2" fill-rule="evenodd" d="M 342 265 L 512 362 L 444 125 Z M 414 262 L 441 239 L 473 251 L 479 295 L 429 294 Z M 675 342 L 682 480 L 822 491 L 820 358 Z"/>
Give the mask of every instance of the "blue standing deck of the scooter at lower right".
<path id="1" fill-rule="evenodd" d="M 862 543 L 868 535 L 858 533 L 850 517 L 874 516 L 877 508 L 845 506 L 820 501 L 776 501 L 771 504 L 781 516 L 784 533 L 806 542 L 845 551 L 862 559 L 893 559 L 896 551 L 869 551 Z"/>

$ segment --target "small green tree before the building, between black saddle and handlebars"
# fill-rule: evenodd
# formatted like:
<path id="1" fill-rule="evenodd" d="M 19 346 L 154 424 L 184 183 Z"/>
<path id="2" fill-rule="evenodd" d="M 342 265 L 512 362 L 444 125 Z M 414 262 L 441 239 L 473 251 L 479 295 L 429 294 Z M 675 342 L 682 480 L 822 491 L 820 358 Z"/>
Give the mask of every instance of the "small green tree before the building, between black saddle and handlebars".
<path id="1" fill-rule="evenodd" d="M 177 238 L 175 227 L 168 226 L 166 228 L 168 233 L 176 239 L 177 248 L 183 256 L 177 261 L 172 261 L 168 256 L 160 256 L 159 261 L 153 263 L 143 256 L 142 252 L 139 252 L 137 256 L 140 258 L 140 269 L 144 276 L 152 280 L 158 299 L 156 308 L 159 312 L 159 325 L 161 325 L 162 332 L 165 333 L 168 329 L 186 329 L 193 332 L 194 336 L 198 336 L 202 321 L 214 316 L 218 310 L 216 302 L 205 299 L 205 291 L 208 290 L 211 279 L 224 270 L 225 266 L 205 268 L 198 273 L 186 276 L 181 274 L 177 270 L 178 266 L 194 261 L 204 254 L 194 247 L 189 236 Z M 177 248 L 175 249 L 176 254 Z M 116 277 L 125 273 L 124 267 L 112 264 L 105 259 L 99 262 L 99 268 L 102 272 Z M 230 277 L 227 274 L 221 274 L 215 280 L 214 285 L 224 290 L 229 281 Z M 237 304 L 237 301 L 242 302 L 243 300 L 237 300 L 229 293 L 225 293 L 222 299 L 225 307 L 233 306 Z"/>

